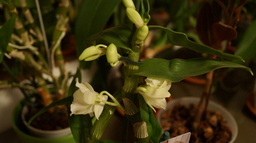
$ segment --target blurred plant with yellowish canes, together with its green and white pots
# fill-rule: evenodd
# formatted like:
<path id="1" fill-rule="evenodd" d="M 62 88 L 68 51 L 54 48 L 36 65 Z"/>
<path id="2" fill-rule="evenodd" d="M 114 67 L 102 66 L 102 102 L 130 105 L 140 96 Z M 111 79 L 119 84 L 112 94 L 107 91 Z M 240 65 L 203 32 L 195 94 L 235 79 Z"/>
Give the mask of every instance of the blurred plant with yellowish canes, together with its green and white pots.
<path id="1" fill-rule="evenodd" d="M 70 5 L 69 0 L 0 0 L 0 89 L 19 88 L 24 95 L 24 100 L 12 114 L 12 124 L 19 137 L 32 140 L 21 139 L 21 142 L 45 143 L 47 141 L 42 139 L 42 132 L 48 131 L 50 137 L 46 133 L 46 138 L 55 138 L 48 141 L 62 138 L 74 142 L 65 106 L 48 110 L 47 118 L 41 116 L 31 124 L 29 130 L 33 128 L 32 134 L 40 130 L 40 133 L 35 133 L 36 136 L 32 136 L 25 125 L 34 112 L 67 97 L 71 74 L 65 66 L 61 41 L 70 32 L 67 28 L 71 23 L 68 17 L 72 17 Z M 21 110 L 26 111 L 24 108 L 28 111 L 23 116 L 25 124 L 20 121 Z M 56 118 L 58 116 L 62 121 Z M 59 129 L 67 129 L 67 132 L 55 136 L 53 131 Z"/>

